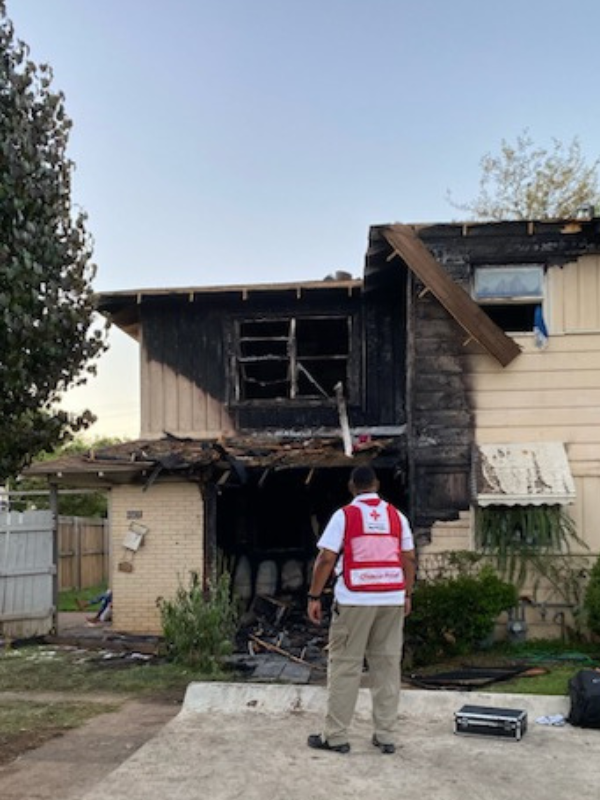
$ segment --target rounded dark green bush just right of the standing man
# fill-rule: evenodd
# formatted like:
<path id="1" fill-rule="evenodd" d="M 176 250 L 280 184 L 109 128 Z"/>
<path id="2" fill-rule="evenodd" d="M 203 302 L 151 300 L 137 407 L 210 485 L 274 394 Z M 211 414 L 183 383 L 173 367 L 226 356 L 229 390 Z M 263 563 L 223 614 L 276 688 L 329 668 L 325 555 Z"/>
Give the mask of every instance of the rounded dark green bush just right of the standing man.
<path id="1" fill-rule="evenodd" d="M 420 664 L 468 653 L 490 636 L 499 614 L 517 602 L 516 587 L 489 566 L 477 575 L 420 582 L 406 620 L 407 649 Z"/>

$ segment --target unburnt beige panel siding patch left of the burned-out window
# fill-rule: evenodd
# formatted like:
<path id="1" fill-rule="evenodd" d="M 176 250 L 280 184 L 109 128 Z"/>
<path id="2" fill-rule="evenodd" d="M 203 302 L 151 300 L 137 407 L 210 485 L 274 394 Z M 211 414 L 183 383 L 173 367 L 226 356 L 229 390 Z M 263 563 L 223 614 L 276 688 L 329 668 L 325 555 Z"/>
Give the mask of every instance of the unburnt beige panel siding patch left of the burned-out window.
<path id="1" fill-rule="evenodd" d="M 142 345 L 141 436 L 210 438 L 234 430 L 225 405 L 166 364 L 150 360 Z"/>

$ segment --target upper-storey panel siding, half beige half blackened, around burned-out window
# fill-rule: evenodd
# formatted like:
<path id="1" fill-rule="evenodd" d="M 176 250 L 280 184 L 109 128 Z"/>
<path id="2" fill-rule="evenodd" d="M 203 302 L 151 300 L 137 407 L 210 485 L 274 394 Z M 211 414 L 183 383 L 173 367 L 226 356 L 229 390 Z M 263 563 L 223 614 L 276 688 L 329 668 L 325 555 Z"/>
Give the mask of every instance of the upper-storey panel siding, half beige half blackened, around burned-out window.
<path id="1" fill-rule="evenodd" d="M 211 438 L 239 430 L 319 428 L 339 425 L 334 395 L 238 401 L 235 397 L 240 321 L 285 318 L 348 318 L 348 380 L 351 426 L 399 425 L 405 421 L 404 284 L 368 299 L 359 282 L 312 291 L 270 290 L 228 295 L 153 296 L 143 300 L 141 343 L 141 435 L 165 432 Z"/>

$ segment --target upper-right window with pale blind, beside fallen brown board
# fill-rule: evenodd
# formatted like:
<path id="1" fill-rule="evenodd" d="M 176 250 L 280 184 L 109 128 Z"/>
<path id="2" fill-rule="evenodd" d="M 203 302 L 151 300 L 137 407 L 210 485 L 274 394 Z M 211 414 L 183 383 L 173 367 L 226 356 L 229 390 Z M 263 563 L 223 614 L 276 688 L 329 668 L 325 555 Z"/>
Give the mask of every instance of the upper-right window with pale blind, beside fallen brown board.
<path id="1" fill-rule="evenodd" d="M 507 333 L 533 331 L 544 299 L 544 268 L 538 264 L 476 267 L 473 298 Z"/>

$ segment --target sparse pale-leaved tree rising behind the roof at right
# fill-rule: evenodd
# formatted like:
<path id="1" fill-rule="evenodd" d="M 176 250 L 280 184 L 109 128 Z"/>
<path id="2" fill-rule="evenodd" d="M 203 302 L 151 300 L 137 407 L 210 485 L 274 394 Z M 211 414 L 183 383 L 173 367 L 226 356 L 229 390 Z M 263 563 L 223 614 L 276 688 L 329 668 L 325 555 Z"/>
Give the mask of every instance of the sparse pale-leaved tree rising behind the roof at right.
<path id="1" fill-rule="evenodd" d="M 599 205 L 598 165 L 588 164 L 579 139 L 569 144 L 552 139 L 552 146 L 535 145 L 527 130 L 514 144 L 502 139 L 497 155 L 480 161 L 479 195 L 470 203 L 455 203 L 475 219 L 571 218 L 584 206 Z"/>

